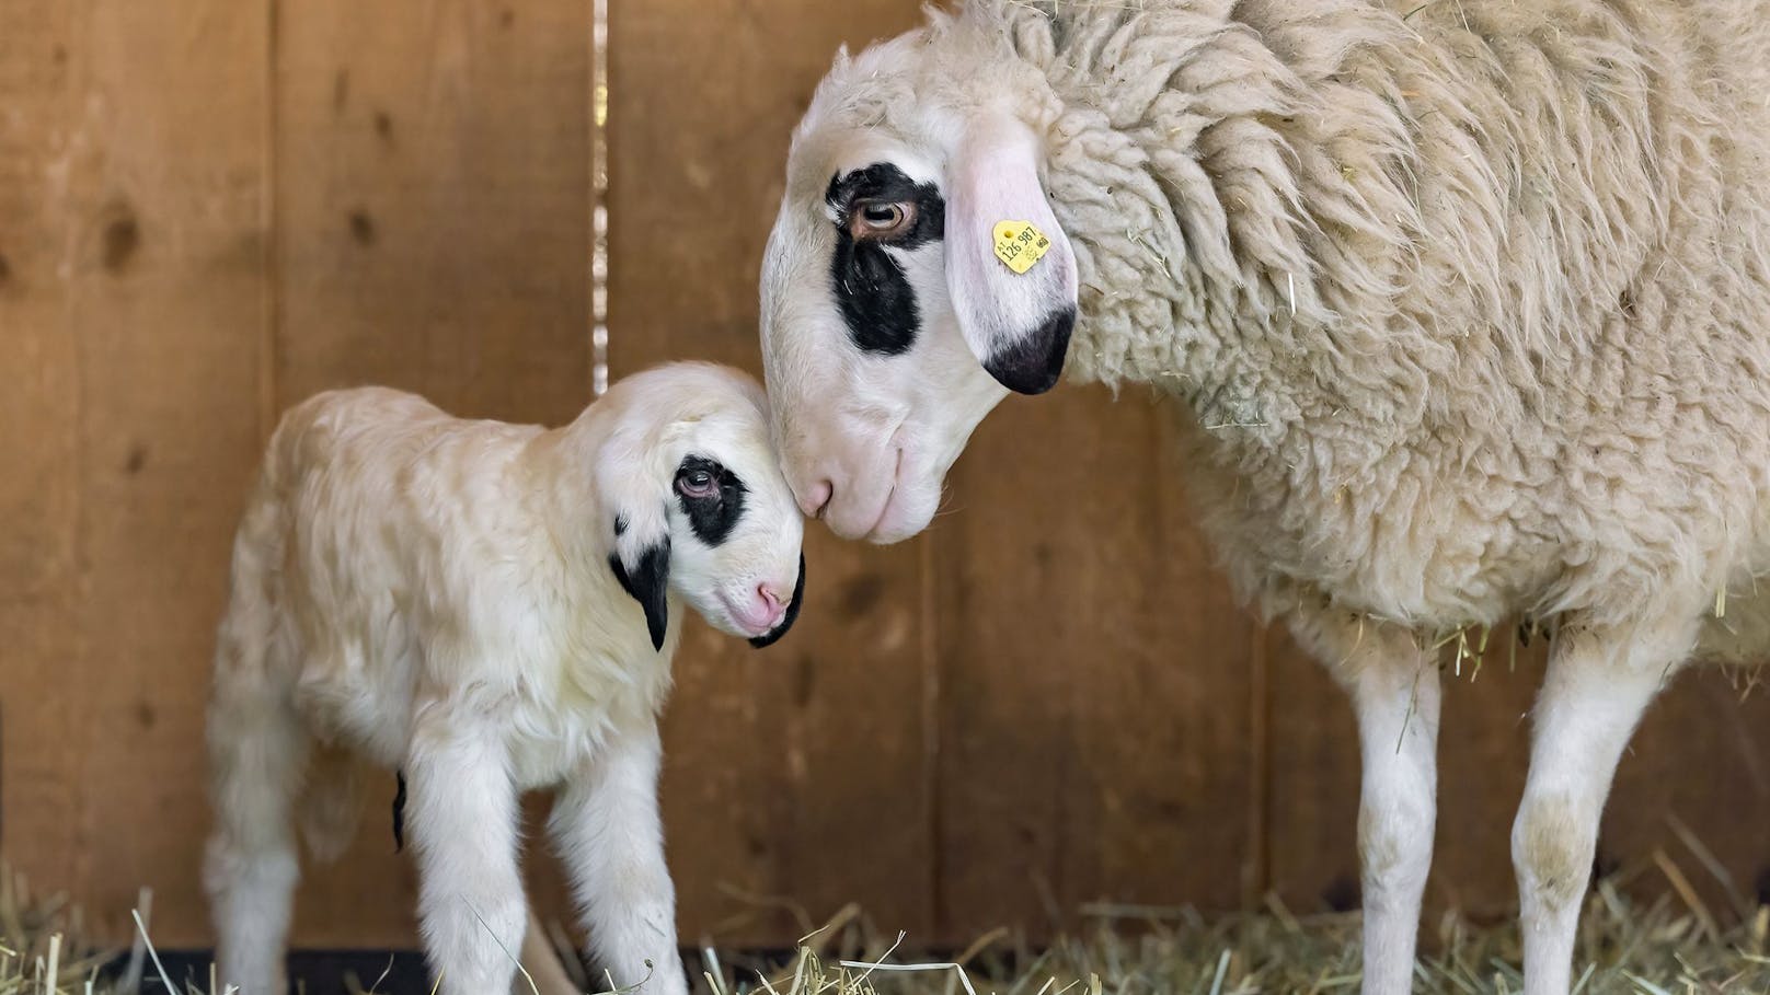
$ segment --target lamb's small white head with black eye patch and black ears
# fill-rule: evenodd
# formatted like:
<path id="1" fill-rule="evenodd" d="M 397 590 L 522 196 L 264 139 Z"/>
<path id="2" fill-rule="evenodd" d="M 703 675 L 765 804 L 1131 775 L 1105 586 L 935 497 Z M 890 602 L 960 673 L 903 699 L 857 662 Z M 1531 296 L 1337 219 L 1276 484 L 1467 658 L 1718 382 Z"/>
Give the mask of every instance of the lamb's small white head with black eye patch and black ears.
<path id="1" fill-rule="evenodd" d="M 715 629 L 766 646 L 798 618 L 804 519 L 749 375 L 669 363 L 616 382 L 596 457 L 609 570 L 664 648 L 669 593 Z"/>

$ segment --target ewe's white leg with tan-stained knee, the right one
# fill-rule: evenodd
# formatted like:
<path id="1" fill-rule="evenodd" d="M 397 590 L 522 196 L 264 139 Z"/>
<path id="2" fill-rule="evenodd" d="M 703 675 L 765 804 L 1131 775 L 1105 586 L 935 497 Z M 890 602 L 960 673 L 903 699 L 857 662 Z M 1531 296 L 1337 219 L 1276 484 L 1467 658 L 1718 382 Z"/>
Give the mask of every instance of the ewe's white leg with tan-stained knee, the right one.
<path id="1" fill-rule="evenodd" d="M 1566 627 L 1556 636 L 1536 698 L 1531 772 L 1512 825 L 1528 995 L 1566 995 L 1616 763 L 1692 636 L 1646 627 L 1627 636 Z"/>

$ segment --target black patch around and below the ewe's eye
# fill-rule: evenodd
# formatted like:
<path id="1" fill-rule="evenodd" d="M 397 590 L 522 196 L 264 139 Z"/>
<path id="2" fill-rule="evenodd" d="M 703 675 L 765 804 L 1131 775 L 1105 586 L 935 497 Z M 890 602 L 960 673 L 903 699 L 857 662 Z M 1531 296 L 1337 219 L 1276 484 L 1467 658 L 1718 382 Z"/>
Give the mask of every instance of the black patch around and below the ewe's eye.
<path id="1" fill-rule="evenodd" d="M 825 202 L 835 209 L 830 285 L 848 336 L 866 352 L 896 356 L 915 343 L 922 324 L 915 289 L 889 250 L 913 250 L 947 234 L 947 202 L 931 182 L 915 182 L 890 163 L 830 177 Z M 890 237 L 855 239 L 850 221 L 869 205 L 912 204 L 913 223 Z"/>

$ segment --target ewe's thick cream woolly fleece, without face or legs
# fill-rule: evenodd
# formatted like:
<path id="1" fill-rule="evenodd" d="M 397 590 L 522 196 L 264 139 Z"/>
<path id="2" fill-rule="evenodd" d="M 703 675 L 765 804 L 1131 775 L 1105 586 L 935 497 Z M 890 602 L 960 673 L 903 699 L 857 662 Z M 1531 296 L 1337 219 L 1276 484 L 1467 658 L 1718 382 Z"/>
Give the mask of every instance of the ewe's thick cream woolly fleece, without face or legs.
<path id="1" fill-rule="evenodd" d="M 972 0 L 820 99 L 1046 136 L 1069 374 L 1184 398 L 1266 611 L 1751 618 L 1770 4 Z"/>

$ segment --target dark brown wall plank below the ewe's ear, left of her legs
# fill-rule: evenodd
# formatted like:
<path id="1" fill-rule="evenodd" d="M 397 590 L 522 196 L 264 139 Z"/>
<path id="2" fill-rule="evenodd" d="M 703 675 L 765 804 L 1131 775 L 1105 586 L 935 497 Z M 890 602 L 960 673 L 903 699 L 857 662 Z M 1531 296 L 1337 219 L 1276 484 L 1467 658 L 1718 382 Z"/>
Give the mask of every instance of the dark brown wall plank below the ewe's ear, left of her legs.
<path id="1" fill-rule="evenodd" d="M 1142 391 L 1011 398 L 954 473 L 933 535 L 949 940 L 1094 899 L 1241 901 L 1251 627 L 1189 522 L 1172 418 Z"/>

